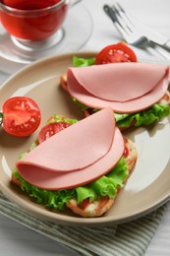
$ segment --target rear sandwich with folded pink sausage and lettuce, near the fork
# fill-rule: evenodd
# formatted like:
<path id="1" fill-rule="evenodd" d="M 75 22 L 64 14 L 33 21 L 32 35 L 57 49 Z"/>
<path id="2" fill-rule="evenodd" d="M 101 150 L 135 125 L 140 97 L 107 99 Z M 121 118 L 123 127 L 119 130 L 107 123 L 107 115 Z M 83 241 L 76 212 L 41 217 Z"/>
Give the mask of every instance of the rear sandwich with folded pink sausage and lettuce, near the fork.
<path id="1" fill-rule="evenodd" d="M 170 112 L 167 65 L 124 62 L 69 67 L 60 85 L 85 116 L 111 107 L 121 130 L 154 124 Z"/>

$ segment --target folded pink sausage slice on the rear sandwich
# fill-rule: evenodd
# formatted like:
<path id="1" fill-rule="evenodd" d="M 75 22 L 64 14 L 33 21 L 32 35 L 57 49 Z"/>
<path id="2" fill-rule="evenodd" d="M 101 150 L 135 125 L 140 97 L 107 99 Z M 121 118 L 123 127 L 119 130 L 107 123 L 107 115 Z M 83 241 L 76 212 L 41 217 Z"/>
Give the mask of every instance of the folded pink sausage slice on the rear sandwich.
<path id="1" fill-rule="evenodd" d="M 67 78 L 70 94 L 85 105 L 131 113 L 149 107 L 165 94 L 168 75 L 165 65 L 113 63 L 69 68 Z"/>

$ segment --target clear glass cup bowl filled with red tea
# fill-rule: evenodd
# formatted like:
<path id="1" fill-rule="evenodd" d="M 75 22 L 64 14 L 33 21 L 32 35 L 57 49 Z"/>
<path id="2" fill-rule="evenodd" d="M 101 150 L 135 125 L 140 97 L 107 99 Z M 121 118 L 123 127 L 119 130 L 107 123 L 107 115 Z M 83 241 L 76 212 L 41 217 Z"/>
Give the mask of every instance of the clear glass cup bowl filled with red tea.
<path id="1" fill-rule="evenodd" d="M 57 32 L 68 11 L 68 0 L 3 0 L 1 23 L 11 35 L 31 41 Z"/>

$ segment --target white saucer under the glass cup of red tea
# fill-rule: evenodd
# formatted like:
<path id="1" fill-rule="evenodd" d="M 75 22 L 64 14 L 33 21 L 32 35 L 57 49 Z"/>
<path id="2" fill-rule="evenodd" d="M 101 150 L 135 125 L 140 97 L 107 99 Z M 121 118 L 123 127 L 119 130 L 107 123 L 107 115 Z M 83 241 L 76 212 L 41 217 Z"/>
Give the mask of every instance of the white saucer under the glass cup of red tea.
<path id="1" fill-rule="evenodd" d="M 73 6 L 69 10 L 68 17 L 62 30 L 54 36 L 59 36 L 58 43 L 51 47 L 34 48 L 30 51 L 28 47 L 19 47 L 14 39 L 0 25 L 0 57 L 12 62 L 28 64 L 34 60 L 64 51 L 81 49 L 89 39 L 92 32 L 92 19 L 83 4 Z M 53 37 L 54 37 L 53 36 Z"/>

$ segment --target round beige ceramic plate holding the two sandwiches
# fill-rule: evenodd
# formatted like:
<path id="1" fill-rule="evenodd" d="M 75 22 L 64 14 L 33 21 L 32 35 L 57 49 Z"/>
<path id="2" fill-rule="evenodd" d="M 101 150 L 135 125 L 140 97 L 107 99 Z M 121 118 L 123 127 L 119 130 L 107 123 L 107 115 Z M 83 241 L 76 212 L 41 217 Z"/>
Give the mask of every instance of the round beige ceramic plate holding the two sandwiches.
<path id="1" fill-rule="evenodd" d="M 70 96 L 59 87 L 60 75 L 72 65 L 73 55 L 92 57 L 94 52 L 74 52 L 34 62 L 12 76 L 0 90 L 0 102 L 10 96 L 30 96 L 42 111 L 42 126 L 54 113 L 82 118 Z M 0 131 L 0 189 L 29 214 L 57 224 L 103 225 L 119 224 L 138 218 L 162 205 L 170 196 L 170 117 L 153 127 L 126 132 L 136 144 L 139 160 L 113 207 L 100 218 L 83 219 L 70 213 L 55 213 L 32 202 L 10 183 L 10 175 L 20 154 L 28 150 L 37 136 L 14 138 Z"/>

